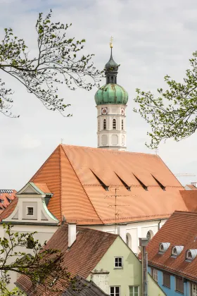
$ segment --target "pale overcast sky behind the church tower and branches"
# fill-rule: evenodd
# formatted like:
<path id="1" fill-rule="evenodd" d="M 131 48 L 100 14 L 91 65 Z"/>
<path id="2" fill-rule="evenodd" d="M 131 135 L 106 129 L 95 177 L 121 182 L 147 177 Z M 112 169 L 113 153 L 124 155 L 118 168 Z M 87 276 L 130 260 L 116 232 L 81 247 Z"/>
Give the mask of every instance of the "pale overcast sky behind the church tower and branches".
<path id="1" fill-rule="evenodd" d="M 68 37 L 86 39 L 85 53 L 95 54 L 94 63 L 103 69 L 110 57 L 109 39 L 114 37 L 113 57 L 120 63 L 117 83 L 129 93 L 127 106 L 127 150 L 155 153 L 146 148 L 148 125 L 132 111 L 136 88 L 155 92 L 165 87 L 163 77 L 184 78 L 189 58 L 197 50 L 196 0 L 0 0 L 0 39 L 4 27 L 12 27 L 29 49 L 36 47 L 34 25 L 39 12 L 53 9 L 53 20 L 72 23 Z M 96 147 L 96 108 L 91 92 L 68 90 L 61 95 L 71 104 L 64 118 L 48 111 L 15 80 L 4 75 L 15 93 L 13 113 L 0 114 L 1 189 L 19 190 L 61 143 Z M 103 84 L 105 80 L 103 79 Z M 173 173 L 196 173 L 197 135 L 181 142 L 167 140 L 158 154 Z M 196 178 L 182 178 L 189 183 Z"/>

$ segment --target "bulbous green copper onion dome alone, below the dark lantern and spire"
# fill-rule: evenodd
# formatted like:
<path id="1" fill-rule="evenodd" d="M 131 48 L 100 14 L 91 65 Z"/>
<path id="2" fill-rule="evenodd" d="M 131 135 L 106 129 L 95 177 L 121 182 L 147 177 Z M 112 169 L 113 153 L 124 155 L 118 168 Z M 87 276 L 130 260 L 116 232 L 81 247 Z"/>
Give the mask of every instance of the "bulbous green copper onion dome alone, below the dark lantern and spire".
<path id="1" fill-rule="evenodd" d="M 114 83 L 103 85 L 97 90 L 95 97 L 96 105 L 102 104 L 127 104 L 128 93 L 123 87 Z"/>

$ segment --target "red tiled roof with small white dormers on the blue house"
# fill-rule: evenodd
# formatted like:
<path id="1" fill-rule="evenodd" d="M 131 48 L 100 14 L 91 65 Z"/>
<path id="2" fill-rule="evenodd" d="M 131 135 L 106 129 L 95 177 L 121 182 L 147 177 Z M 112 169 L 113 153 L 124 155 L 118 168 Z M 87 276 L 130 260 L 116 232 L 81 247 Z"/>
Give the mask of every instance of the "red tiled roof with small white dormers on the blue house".
<path id="1" fill-rule="evenodd" d="M 187 249 L 197 249 L 197 213 L 175 211 L 148 243 L 148 264 L 180 276 L 197 280 L 197 257 L 185 261 Z M 158 254 L 160 242 L 170 242 L 164 254 Z M 177 258 L 171 257 L 174 245 L 184 246 Z"/>

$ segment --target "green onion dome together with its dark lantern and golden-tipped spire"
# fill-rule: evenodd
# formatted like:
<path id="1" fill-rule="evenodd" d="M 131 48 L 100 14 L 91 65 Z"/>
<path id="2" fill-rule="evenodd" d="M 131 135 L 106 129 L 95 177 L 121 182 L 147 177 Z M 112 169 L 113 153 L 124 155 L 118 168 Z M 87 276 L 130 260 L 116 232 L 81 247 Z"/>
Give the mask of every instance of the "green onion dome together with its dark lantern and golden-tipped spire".
<path id="1" fill-rule="evenodd" d="M 106 85 L 103 85 L 95 94 L 96 105 L 102 104 L 127 104 L 128 93 L 123 87 L 117 85 L 118 65 L 113 60 L 112 43 L 110 43 L 111 55 L 110 60 L 106 63 Z"/>

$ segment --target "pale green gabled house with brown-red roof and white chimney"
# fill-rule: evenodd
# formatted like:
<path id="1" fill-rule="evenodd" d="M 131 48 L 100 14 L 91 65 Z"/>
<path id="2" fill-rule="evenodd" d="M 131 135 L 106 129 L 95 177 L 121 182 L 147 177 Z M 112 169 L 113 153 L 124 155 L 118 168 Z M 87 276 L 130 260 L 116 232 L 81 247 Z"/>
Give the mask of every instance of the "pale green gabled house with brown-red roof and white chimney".
<path id="1" fill-rule="evenodd" d="M 46 247 L 61 250 L 63 266 L 72 276 L 92 280 L 106 294 L 141 295 L 141 262 L 119 235 L 64 223 Z M 16 285 L 31 295 L 32 284 L 27 276 L 18 278 Z M 165 295 L 150 275 L 148 295 Z"/>

